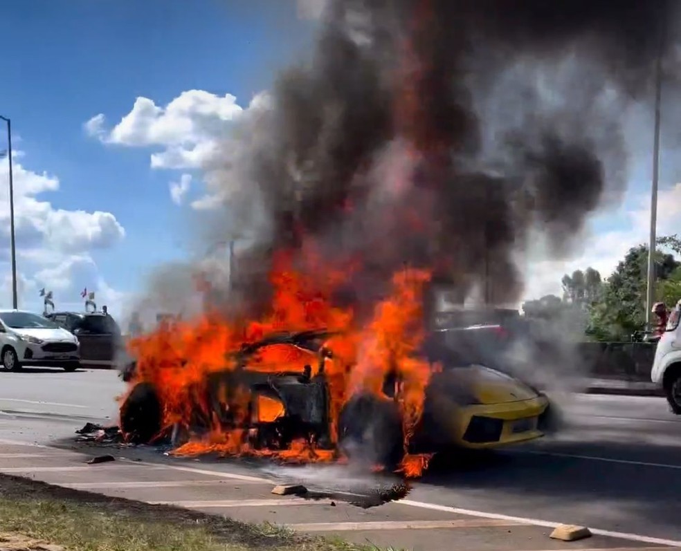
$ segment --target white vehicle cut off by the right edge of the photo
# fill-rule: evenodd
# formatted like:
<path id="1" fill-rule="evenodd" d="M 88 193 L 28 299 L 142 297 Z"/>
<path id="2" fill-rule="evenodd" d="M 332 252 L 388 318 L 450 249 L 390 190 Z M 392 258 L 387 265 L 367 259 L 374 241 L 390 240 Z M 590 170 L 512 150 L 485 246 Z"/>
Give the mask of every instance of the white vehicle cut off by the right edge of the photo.
<path id="1" fill-rule="evenodd" d="M 681 415 L 681 300 L 669 316 L 666 331 L 657 343 L 651 380 L 664 389 L 671 411 Z"/>

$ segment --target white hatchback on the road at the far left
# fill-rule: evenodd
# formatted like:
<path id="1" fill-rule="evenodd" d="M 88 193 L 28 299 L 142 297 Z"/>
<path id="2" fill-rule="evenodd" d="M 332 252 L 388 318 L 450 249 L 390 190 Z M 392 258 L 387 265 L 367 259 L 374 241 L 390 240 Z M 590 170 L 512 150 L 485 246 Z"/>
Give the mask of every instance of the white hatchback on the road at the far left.
<path id="1" fill-rule="evenodd" d="M 80 344 L 75 335 L 33 312 L 0 310 L 0 364 L 6 371 L 23 366 L 80 366 Z"/>

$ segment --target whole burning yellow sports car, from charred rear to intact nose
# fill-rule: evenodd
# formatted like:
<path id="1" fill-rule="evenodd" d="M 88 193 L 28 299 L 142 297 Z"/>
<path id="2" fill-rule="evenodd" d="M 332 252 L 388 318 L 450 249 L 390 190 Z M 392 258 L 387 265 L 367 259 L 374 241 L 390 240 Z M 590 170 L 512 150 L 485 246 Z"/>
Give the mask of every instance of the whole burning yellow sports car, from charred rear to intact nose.
<path id="1" fill-rule="evenodd" d="M 423 359 L 405 364 L 409 370 L 368 373 L 363 389 L 339 398 L 352 377 L 329 348 L 333 337 L 327 330 L 273 334 L 242 346 L 209 373 L 192 373 L 187 362 L 147 364 L 150 371 L 132 377 L 121 429 L 149 442 L 170 428 L 164 415 L 177 408 L 173 433 L 186 437 L 172 437 L 177 453 L 345 456 L 399 467 L 407 476 L 418 476 L 431 454 L 453 446 L 493 448 L 543 436 L 545 395 L 496 369 L 462 363 L 442 339 L 430 339 Z M 263 363 L 268 358 L 278 361 Z M 309 363 L 289 371 L 292 360 Z M 415 373 L 427 375 L 422 384 Z"/>

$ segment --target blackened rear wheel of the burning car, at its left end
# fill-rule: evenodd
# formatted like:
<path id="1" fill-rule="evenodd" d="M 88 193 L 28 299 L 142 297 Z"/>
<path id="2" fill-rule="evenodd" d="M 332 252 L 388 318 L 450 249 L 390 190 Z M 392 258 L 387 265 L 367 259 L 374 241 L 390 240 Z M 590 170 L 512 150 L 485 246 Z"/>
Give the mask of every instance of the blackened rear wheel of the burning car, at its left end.
<path id="1" fill-rule="evenodd" d="M 148 444 L 163 428 L 161 400 L 154 386 L 137 384 L 120 407 L 120 430 L 134 444 Z"/>

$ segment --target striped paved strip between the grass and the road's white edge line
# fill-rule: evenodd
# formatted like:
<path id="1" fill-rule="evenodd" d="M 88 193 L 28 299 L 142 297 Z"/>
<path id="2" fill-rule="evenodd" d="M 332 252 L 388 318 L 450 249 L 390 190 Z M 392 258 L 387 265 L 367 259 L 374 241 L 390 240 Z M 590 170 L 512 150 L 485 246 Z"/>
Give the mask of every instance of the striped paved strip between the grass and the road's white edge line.
<path id="1" fill-rule="evenodd" d="M 111 449 L 93 450 L 110 453 Z M 113 450 L 114 455 L 116 451 Z M 240 521 L 288 525 L 379 548 L 413 551 L 678 550 L 670 545 L 594 535 L 572 543 L 548 537 L 552 528 L 479 512 L 462 513 L 407 500 L 361 509 L 348 503 L 271 494 L 273 481 L 215 465 L 146 463 L 118 458 L 88 465 L 91 456 L 50 447 L 0 442 L 0 473 L 147 503 L 172 504 Z M 222 465 L 221 465 L 222 467 Z M 522 514 L 512 511 L 509 514 Z"/>

